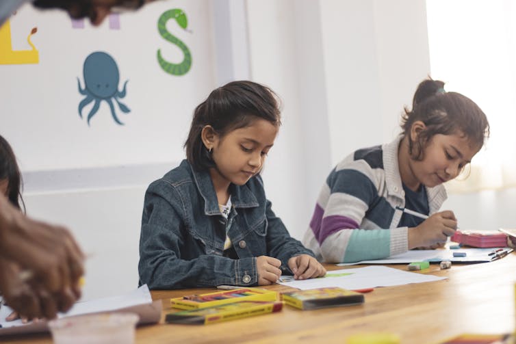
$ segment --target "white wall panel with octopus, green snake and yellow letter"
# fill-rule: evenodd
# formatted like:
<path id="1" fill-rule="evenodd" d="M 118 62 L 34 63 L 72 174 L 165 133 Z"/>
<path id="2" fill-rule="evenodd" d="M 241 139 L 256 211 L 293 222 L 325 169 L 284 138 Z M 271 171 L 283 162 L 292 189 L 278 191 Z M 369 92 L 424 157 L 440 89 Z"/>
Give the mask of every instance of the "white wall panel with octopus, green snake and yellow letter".
<path id="1" fill-rule="evenodd" d="M 209 0 L 156 1 L 99 27 L 27 4 L 0 28 L 1 135 L 24 171 L 180 161 L 216 86 Z"/>

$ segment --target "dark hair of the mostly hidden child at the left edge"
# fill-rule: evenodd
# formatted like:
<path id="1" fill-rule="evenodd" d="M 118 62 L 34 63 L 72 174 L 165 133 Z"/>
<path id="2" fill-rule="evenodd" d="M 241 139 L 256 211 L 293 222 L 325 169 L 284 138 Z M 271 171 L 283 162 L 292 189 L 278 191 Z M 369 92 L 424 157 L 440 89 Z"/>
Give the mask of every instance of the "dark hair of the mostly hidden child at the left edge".
<path id="1" fill-rule="evenodd" d="M 0 181 L 8 181 L 8 199 L 14 207 L 21 209 L 20 202 L 25 211 L 25 203 L 21 197 L 21 189 L 23 188 L 23 181 L 21 178 L 16 157 L 12 151 L 11 146 L 0 135 Z"/>

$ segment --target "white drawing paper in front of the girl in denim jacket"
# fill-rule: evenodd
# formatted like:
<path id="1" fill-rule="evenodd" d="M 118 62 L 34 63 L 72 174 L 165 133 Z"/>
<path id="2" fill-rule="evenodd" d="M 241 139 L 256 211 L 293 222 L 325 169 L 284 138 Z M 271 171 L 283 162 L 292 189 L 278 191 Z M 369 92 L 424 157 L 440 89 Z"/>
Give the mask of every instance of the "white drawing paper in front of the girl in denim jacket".
<path id="1" fill-rule="evenodd" d="M 282 279 L 283 278 L 284 277 L 282 277 Z M 279 284 L 302 290 L 327 287 L 341 287 L 354 290 L 433 282 L 435 280 L 444 279 L 446 279 L 446 277 L 406 272 L 392 267 L 368 266 L 357 267 L 355 269 L 332 270 L 328 271 L 326 276 L 322 278 L 292 280 L 289 282 L 279 282 Z"/>

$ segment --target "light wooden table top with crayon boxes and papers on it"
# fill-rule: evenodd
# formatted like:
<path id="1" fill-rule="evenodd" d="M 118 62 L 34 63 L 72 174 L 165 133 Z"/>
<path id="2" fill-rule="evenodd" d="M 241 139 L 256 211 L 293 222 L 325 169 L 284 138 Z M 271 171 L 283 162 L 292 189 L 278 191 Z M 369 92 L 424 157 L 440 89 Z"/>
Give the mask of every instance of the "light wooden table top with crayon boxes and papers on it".
<path id="1" fill-rule="evenodd" d="M 406 265 L 390 266 L 407 269 Z M 454 263 L 448 270 L 433 264 L 422 273 L 448 279 L 376 288 L 365 294 L 365 304 L 359 306 L 305 311 L 284 306 L 280 313 L 209 326 L 167 325 L 162 317 L 158 325 L 138 328 L 136 343 L 345 343 L 350 334 L 390 332 L 400 336 L 402 343 L 424 344 L 465 332 L 514 331 L 515 253 L 492 263 Z M 267 288 L 290 290 L 282 285 Z M 153 291 L 153 299 L 163 300 L 165 315 L 170 311 L 170 297 L 211 291 Z M 49 334 L 0 337 L 0 342 L 52 343 Z"/>

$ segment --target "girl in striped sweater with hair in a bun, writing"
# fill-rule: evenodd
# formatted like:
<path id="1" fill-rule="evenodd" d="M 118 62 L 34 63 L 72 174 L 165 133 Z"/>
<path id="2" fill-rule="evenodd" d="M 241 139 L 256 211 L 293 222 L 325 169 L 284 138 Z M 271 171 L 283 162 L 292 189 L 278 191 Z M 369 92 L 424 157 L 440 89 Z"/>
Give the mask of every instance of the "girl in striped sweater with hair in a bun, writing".
<path id="1" fill-rule="evenodd" d="M 331 171 L 303 239 L 318 259 L 383 259 L 436 248 L 453 235 L 454 213 L 439 211 L 446 200 L 443 183 L 482 148 L 489 123 L 476 103 L 443 86 L 422 81 L 396 140 L 357 150 Z"/>

